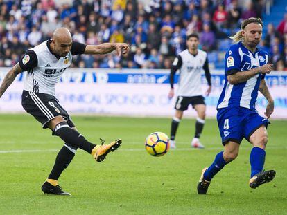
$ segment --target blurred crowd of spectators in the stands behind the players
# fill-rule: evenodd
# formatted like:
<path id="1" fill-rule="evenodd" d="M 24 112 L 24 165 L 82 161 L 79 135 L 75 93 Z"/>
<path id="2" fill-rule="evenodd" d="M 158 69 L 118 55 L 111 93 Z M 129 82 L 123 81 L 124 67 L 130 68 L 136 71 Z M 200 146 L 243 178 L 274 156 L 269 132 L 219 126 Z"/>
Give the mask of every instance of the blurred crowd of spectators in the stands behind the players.
<path id="1" fill-rule="evenodd" d="M 127 42 L 128 57 L 75 56 L 72 66 L 85 68 L 171 68 L 186 48 L 186 35 L 198 32 L 200 48 L 211 68 L 222 68 L 229 35 L 242 19 L 262 17 L 263 0 L 0 0 L 0 66 L 13 66 L 24 50 L 67 27 L 73 41 L 85 44 Z M 262 48 L 277 68 L 287 68 L 287 15 L 268 25 Z"/>

